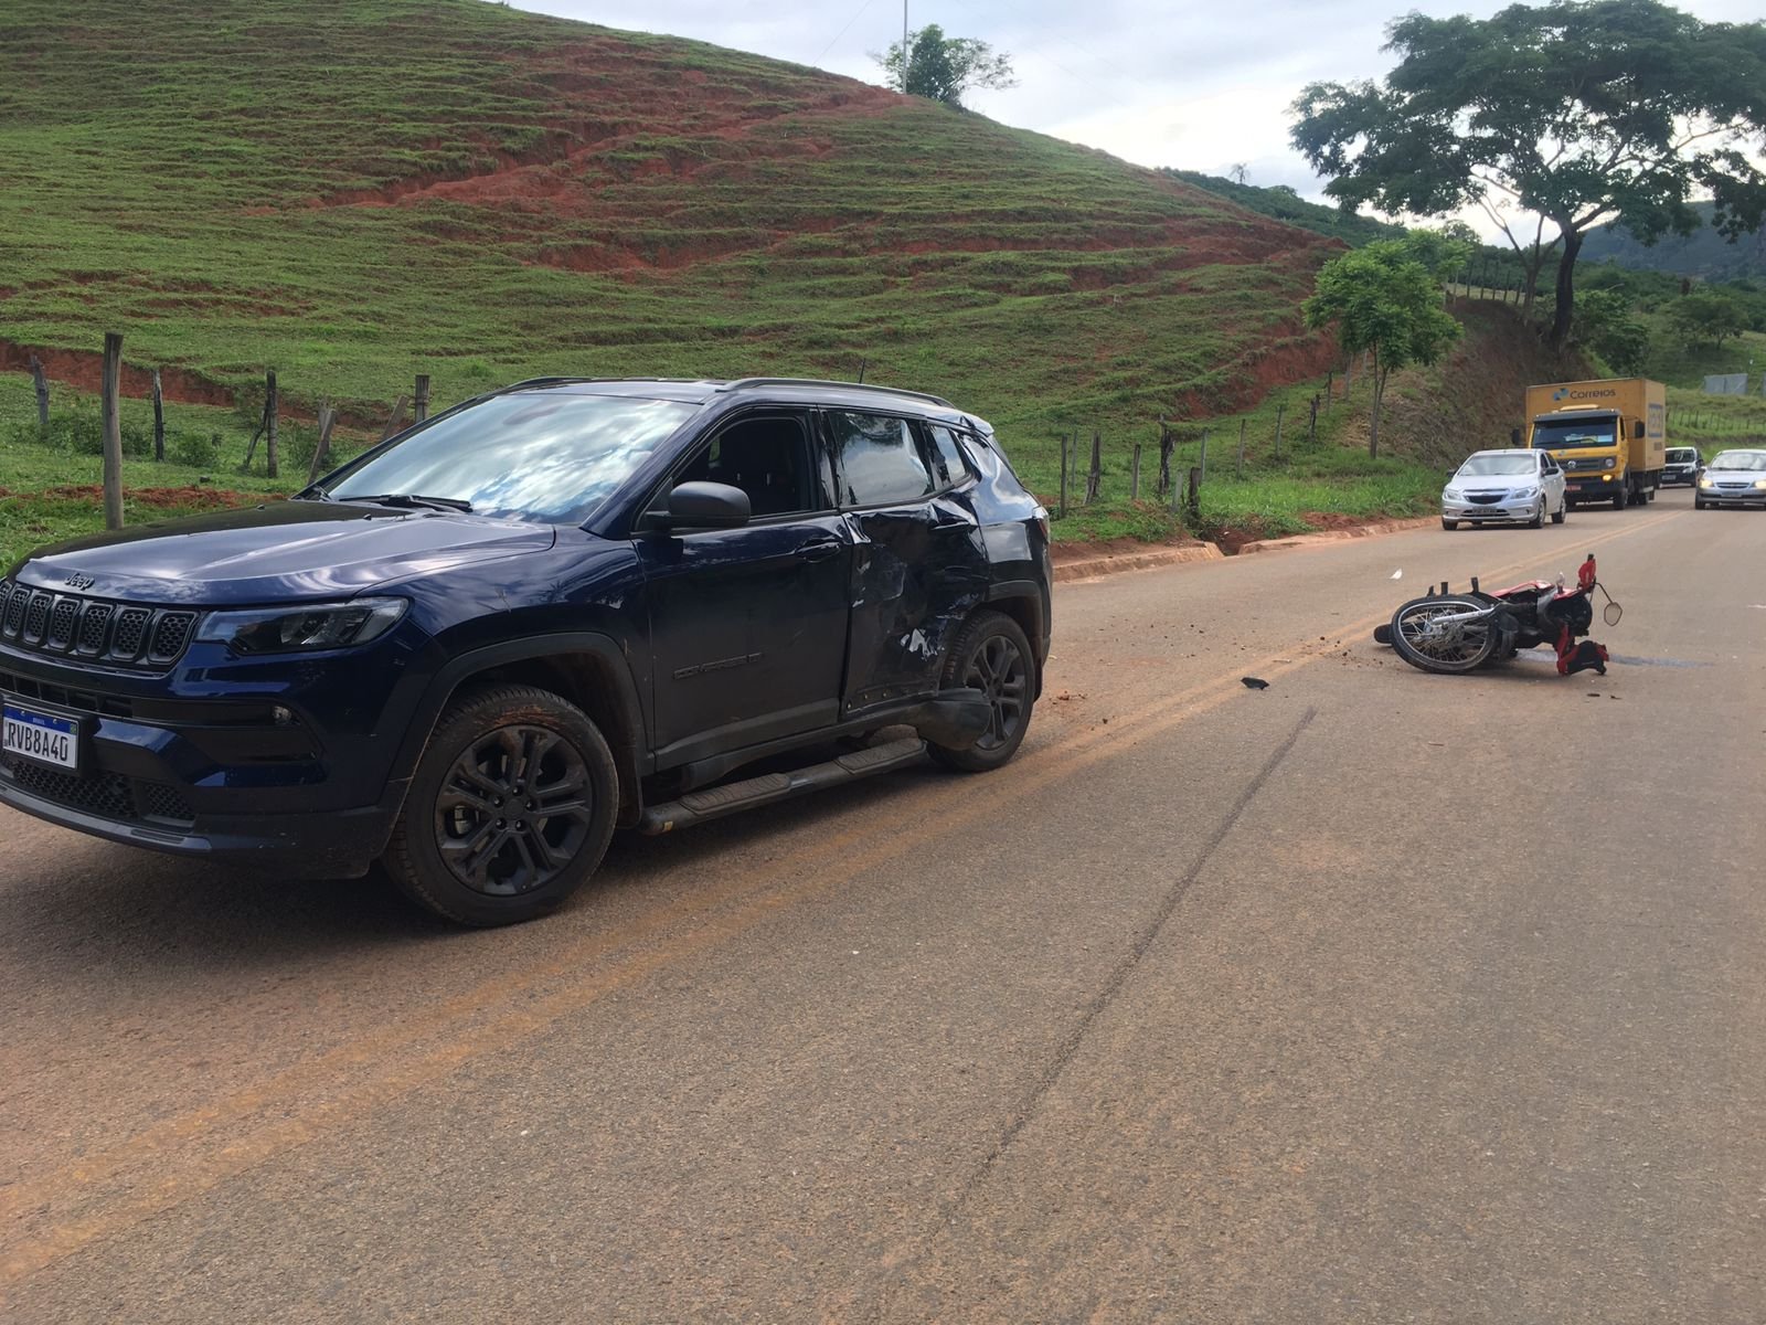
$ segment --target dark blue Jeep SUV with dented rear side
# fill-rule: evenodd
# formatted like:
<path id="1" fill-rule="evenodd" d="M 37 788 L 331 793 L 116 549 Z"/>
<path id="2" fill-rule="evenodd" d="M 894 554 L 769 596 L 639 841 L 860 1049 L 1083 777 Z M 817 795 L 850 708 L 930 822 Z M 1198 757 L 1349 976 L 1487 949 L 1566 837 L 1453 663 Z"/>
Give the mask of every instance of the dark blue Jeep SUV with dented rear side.
<path id="1" fill-rule="evenodd" d="M 443 917 L 525 920 L 615 825 L 925 751 L 1001 767 L 1042 689 L 1049 585 L 1047 512 L 936 396 L 525 382 L 295 500 L 19 562 L 0 800 L 304 874 L 380 859 Z"/>

